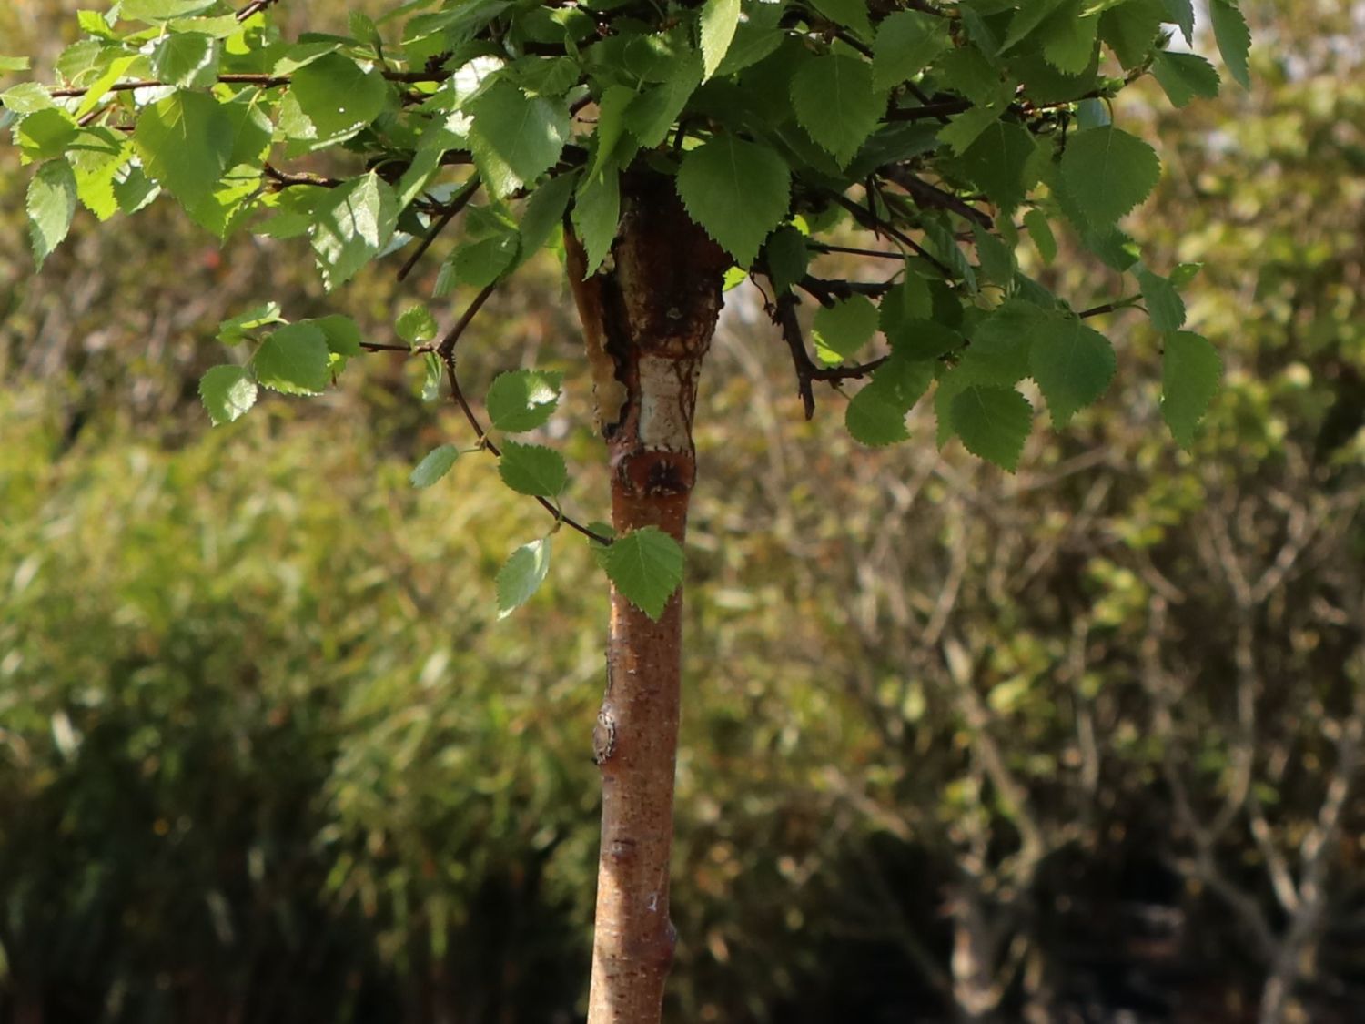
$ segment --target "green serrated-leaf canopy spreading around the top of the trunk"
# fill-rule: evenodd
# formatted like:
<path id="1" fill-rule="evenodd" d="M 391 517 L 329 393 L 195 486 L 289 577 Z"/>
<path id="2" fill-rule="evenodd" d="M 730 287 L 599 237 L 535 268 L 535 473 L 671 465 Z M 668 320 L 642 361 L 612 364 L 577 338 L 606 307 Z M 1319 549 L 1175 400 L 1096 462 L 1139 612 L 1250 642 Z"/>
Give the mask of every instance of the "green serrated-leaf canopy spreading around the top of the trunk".
<path id="1" fill-rule="evenodd" d="M 483 289 L 472 315 L 536 248 L 558 246 L 565 213 L 588 272 L 609 269 L 621 176 L 662 176 L 738 272 L 785 296 L 770 309 L 808 408 L 815 380 L 871 378 L 846 422 L 886 444 L 931 392 L 940 441 L 960 437 L 1009 470 L 1033 415 L 1016 385 L 1032 377 L 1061 426 L 1117 369 L 1100 328 L 1058 315 L 1093 296 L 1028 276 L 1021 238 L 1048 258 L 1070 238 L 1137 274 L 1162 330 L 1188 329 L 1174 280 L 1148 272 L 1118 227 L 1156 186 L 1160 158 L 1137 126 L 1110 124 L 1106 104 L 1148 71 L 1177 105 L 1218 91 L 1211 64 L 1164 49 L 1171 30 L 1193 31 L 1189 4 L 419 0 L 299 37 L 262 3 L 126 0 L 115 14 L 81 16 L 51 87 L 3 94 L 38 165 L 40 262 L 78 205 L 108 218 L 165 194 L 224 239 L 306 239 L 329 291 L 400 250 L 407 274 L 450 229 L 434 291 Z M 1233 0 L 1209 14 L 1245 85 L 1245 19 Z M 878 280 L 831 280 L 831 244 L 890 259 Z M 811 318 L 793 311 L 805 299 L 819 306 L 809 339 Z M 976 335 L 1002 303 L 1037 309 L 1055 330 L 992 365 Z M 213 421 L 251 408 L 255 385 L 330 386 L 362 347 L 349 337 L 341 351 L 319 324 L 229 332 L 253 351 L 205 381 Z M 863 356 L 878 328 L 900 360 L 880 375 L 885 351 Z M 396 326 L 427 351 L 435 333 L 415 313 Z M 494 384 L 494 429 L 546 423 L 558 384 L 535 373 Z M 1182 442 L 1203 407 L 1186 392 L 1163 406 Z M 545 501 L 562 489 L 561 464 L 534 451 L 502 477 Z"/>

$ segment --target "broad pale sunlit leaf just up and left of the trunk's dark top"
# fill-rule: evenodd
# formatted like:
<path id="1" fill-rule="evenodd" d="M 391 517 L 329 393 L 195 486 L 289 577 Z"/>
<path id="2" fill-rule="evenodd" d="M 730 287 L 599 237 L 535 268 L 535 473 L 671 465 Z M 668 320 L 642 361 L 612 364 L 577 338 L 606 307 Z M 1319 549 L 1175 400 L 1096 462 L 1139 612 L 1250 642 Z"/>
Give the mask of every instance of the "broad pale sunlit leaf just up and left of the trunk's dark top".
<path id="1" fill-rule="evenodd" d="M 474 116 L 470 147 L 497 198 L 531 184 L 560 158 L 569 138 L 569 115 L 543 97 L 531 98 L 494 82 L 468 104 Z"/>

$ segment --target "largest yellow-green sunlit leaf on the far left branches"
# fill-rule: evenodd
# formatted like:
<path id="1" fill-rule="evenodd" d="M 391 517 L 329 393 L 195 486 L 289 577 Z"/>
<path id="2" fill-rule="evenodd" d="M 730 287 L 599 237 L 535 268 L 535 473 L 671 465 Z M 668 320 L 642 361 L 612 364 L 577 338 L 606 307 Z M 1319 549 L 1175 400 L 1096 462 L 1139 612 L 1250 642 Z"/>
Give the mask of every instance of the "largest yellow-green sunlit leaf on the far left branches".
<path id="1" fill-rule="evenodd" d="M 232 153 L 232 120 L 206 93 L 177 91 L 145 109 L 132 145 L 147 176 L 183 206 L 213 195 Z"/>

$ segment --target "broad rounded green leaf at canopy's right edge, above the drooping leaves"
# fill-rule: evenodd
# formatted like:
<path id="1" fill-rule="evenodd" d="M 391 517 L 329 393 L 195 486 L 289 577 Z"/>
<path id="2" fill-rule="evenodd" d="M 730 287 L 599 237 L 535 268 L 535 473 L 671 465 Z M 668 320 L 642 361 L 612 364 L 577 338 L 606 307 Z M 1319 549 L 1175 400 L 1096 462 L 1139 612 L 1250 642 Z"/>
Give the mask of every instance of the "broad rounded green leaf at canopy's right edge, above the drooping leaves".
<path id="1" fill-rule="evenodd" d="M 1067 139 L 1061 171 L 1081 216 L 1104 227 L 1151 194 L 1162 176 L 1162 161 L 1156 150 L 1121 128 L 1089 128 Z"/>

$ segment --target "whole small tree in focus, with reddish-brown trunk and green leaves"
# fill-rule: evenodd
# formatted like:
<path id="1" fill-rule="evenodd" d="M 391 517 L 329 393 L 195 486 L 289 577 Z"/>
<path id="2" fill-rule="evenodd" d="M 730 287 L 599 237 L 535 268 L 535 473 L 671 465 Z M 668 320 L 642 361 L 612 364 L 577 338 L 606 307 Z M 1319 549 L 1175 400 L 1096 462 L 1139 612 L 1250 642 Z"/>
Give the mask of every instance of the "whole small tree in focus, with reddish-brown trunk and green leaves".
<path id="1" fill-rule="evenodd" d="M 225 423 L 259 386 L 318 395 L 362 352 L 411 354 L 464 412 L 470 451 L 495 456 L 508 486 L 551 515 L 498 573 L 500 608 L 534 594 L 561 527 L 595 546 L 613 597 L 592 736 L 603 811 L 590 1020 L 655 1020 L 673 946 L 692 418 L 725 283 L 764 288 L 807 416 L 816 384 L 863 381 L 845 422 L 886 445 L 906 438 L 908 411 L 932 389 L 938 442 L 957 437 L 1010 471 L 1035 412 L 1021 384 L 1032 380 L 1066 425 L 1117 370 L 1089 321 L 1145 307 L 1164 332 L 1162 411 L 1190 444 L 1219 360 L 1182 329 L 1178 288 L 1193 269 L 1147 268 L 1118 227 L 1160 161 L 1111 123 L 1110 100 L 1147 72 L 1177 106 L 1216 93 L 1207 60 L 1167 49 L 1164 26 L 1193 40 L 1193 4 L 412 0 L 295 40 L 272 23 L 274 5 L 86 11 L 56 63 L 61 82 L 4 93 L 5 122 L 37 164 L 34 255 L 41 265 L 67 236 L 78 205 L 108 220 L 165 193 L 220 238 L 307 238 L 336 291 L 411 246 L 399 269 L 410 276 L 459 220 L 433 298 L 474 296 L 449 329 L 419 304 L 397 318 L 397 341 L 367 340 L 341 314 L 291 321 L 268 302 L 224 321 L 218 339 L 246 354 L 209 370 L 201 395 Z M 1245 85 L 1244 18 L 1233 0 L 1209 14 Z M 1024 273 L 1024 239 L 1051 262 L 1055 228 L 1137 291 L 1077 311 Z M 500 374 L 487 427 L 457 373 L 480 307 L 546 247 L 562 251 L 584 328 L 610 527 L 564 512 L 558 452 L 505 437 L 550 421 L 561 371 Z M 890 273 L 820 270 L 846 255 Z M 882 354 L 864 356 L 878 333 Z M 460 455 L 437 448 L 414 485 L 435 485 Z"/>

